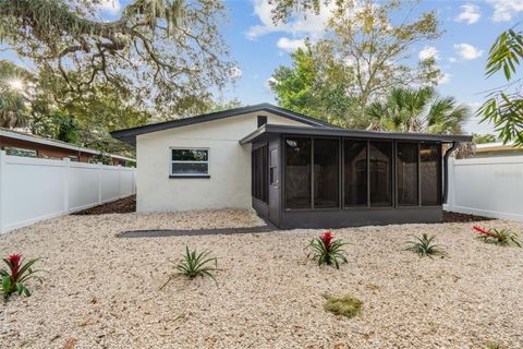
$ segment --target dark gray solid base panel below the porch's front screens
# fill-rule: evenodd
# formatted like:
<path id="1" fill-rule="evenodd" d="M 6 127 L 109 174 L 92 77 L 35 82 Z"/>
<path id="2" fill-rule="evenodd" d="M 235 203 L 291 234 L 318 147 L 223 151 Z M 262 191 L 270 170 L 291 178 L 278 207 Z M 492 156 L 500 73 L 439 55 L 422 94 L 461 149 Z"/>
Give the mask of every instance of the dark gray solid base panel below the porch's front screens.
<path id="1" fill-rule="evenodd" d="M 255 207 L 256 209 L 256 207 Z M 256 212 L 262 216 L 263 213 Z M 329 229 L 362 226 L 386 226 L 394 224 L 430 224 L 441 222 L 443 209 L 441 206 L 401 207 L 401 208 L 351 208 L 336 210 L 282 210 L 280 229 Z"/>

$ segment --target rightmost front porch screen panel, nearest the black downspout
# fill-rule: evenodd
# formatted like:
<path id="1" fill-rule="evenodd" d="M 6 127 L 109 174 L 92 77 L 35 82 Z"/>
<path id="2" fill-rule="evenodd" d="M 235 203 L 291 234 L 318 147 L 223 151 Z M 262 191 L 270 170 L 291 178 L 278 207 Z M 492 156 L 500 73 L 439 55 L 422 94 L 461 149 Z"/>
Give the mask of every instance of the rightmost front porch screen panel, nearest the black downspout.
<path id="1" fill-rule="evenodd" d="M 441 146 L 421 144 L 422 205 L 441 205 Z"/>

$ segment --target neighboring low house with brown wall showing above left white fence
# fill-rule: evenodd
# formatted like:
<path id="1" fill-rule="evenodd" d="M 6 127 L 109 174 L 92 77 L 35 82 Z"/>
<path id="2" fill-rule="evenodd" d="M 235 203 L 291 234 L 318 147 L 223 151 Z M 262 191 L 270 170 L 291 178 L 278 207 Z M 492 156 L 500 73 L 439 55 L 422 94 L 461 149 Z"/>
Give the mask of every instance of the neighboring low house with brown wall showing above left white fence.
<path id="1" fill-rule="evenodd" d="M 46 159 L 69 158 L 72 161 L 96 163 L 97 157 L 110 158 L 113 166 L 134 166 L 136 160 L 130 157 L 107 154 L 75 144 L 51 140 L 29 133 L 0 128 L 0 149 L 8 155 L 40 157 Z"/>

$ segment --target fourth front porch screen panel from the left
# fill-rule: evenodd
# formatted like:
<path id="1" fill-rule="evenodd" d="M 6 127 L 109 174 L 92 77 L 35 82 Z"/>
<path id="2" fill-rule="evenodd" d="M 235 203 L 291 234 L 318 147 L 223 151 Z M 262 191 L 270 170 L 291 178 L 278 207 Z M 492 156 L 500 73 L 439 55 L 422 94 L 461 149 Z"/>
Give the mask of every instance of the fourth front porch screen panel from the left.
<path id="1" fill-rule="evenodd" d="M 369 143 L 370 206 L 392 205 L 392 142 Z"/>

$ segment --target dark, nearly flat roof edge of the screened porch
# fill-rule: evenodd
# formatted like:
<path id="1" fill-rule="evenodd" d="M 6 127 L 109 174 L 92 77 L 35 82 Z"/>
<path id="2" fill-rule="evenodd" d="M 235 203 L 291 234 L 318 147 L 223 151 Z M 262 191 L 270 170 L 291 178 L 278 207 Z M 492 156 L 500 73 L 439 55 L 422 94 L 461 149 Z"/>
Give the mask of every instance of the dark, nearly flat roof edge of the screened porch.
<path id="1" fill-rule="evenodd" d="M 240 144 L 262 142 L 279 134 L 295 134 L 308 136 L 344 136 L 366 140 L 404 140 L 404 141 L 429 141 L 429 142 L 472 142 L 470 135 L 454 134 L 434 134 L 434 133 L 414 133 L 414 132 L 384 132 L 384 131 L 364 131 L 335 128 L 316 127 L 290 127 L 283 124 L 266 123 L 256 131 L 252 132 Z"/>

